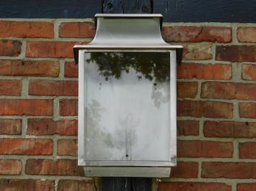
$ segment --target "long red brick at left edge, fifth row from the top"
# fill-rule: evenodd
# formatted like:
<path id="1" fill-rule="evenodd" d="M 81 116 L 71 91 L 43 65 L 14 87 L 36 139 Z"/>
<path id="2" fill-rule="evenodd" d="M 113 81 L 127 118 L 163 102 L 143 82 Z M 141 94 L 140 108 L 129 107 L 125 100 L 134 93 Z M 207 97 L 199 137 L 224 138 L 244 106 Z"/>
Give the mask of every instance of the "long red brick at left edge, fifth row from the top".
<path id="1" fill-rule="evenodd" d="M 53 101 L 43 99 L 0 99 L 0 115 L 6 116 L 51 116 Z"/>

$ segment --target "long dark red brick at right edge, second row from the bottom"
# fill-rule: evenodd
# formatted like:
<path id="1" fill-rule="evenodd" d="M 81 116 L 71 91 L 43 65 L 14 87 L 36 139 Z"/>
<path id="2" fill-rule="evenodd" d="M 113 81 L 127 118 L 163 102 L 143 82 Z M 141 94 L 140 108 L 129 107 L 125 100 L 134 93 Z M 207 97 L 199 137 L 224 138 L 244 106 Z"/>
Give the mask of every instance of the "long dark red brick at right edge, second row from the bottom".
<path id="1" fill-rule="evenodd" d="M 256 163 L 252 162 L 202 162 L 203 178 L 256 178 Z"/>

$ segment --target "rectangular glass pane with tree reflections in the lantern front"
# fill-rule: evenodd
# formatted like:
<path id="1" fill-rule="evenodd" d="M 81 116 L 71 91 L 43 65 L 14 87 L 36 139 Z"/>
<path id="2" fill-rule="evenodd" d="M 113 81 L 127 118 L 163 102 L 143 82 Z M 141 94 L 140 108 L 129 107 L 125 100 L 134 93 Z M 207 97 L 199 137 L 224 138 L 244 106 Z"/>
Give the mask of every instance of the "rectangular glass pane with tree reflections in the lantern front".
<path id="1" fill-rule="evenodd" d="M 85 159 L 169 161 L 169 53 L 85 53 Z"/>

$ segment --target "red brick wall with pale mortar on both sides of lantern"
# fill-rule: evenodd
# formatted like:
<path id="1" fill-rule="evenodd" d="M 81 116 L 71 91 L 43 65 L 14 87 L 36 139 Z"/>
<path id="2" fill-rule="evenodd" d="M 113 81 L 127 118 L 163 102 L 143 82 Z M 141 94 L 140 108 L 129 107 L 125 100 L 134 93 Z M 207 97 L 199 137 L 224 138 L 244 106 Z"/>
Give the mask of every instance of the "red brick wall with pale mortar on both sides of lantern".
<path id="1" fill-rule="evenodd" d="M 0 21 L 0 190 L 97 190 L 76 165 L 72 53 L 93 28 L 91 19 Z M 178 166 L 154 190 L 256 190 L 256 25 L 164 23 L 163 36 L 185 50 Z"/>

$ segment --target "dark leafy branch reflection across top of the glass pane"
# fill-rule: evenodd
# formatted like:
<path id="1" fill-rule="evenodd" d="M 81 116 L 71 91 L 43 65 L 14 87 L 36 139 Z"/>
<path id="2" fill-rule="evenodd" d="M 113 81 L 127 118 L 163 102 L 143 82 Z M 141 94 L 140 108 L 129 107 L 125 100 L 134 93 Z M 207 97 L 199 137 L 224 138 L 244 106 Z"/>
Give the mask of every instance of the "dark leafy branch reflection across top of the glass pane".
<path id="1" fill-rule="evenodd" d="M 167 52 L 93 52 L 87 63 L 96 63 L 100 75 L 120 79 L 122 72 L 136 70 L 137 78 L 153 81 L 151 98 L 156 107 L 167 103 L 169 91 L 161 83 L 169 82 L 169 53 Z"/>

